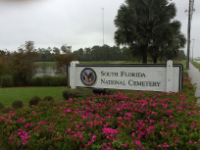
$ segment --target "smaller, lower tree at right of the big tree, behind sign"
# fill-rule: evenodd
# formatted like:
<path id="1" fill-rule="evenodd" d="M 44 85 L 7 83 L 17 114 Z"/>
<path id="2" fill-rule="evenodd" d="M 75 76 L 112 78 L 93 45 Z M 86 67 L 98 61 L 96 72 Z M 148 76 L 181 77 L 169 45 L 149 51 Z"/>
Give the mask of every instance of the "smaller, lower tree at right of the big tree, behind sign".
<path id="1" fill-rule="evenodd" d="M 178 50 L 184 47 L 186 39 L 185 36 L 181 34 L 180 28 L 181 23 L 175 20 L 165 24 L 165 27 L 160 31 L 162 36 L 153 38 L 148 53 L 154 63 L 157 63 L 159 56 L 166 57 L 167 59 L 175 58 L 178 54 Z"/>

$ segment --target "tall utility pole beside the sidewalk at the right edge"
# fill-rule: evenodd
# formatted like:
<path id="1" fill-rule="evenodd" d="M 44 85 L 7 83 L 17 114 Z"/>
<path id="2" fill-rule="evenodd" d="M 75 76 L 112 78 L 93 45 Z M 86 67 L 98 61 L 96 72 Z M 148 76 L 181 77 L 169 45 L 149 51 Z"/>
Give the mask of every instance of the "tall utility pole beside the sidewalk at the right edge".
<path id="1" fill-rule="evenodd" d="M 189 69 L 189 58 L 190 58 L 190 30 L 191 30 L 192 15 L 193 15 L 193 11 L 194 11 L 193 7 L 194 7 L 194 0 L 189 0 L 186 69 Z M 186 11 L 187 11 L 187 10 L 186 10 Z"/>

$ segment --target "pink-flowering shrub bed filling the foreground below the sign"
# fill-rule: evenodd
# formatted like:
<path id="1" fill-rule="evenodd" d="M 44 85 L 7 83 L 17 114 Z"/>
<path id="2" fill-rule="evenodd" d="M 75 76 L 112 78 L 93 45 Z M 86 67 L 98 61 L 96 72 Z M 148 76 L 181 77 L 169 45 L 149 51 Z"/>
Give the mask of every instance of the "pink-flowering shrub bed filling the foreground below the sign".
<path id="1" fill-rule="evenodd" d="M 0 117 L 6 149 L 199 150 L 200 110 L 193 94 L 93 95 Z"/>

